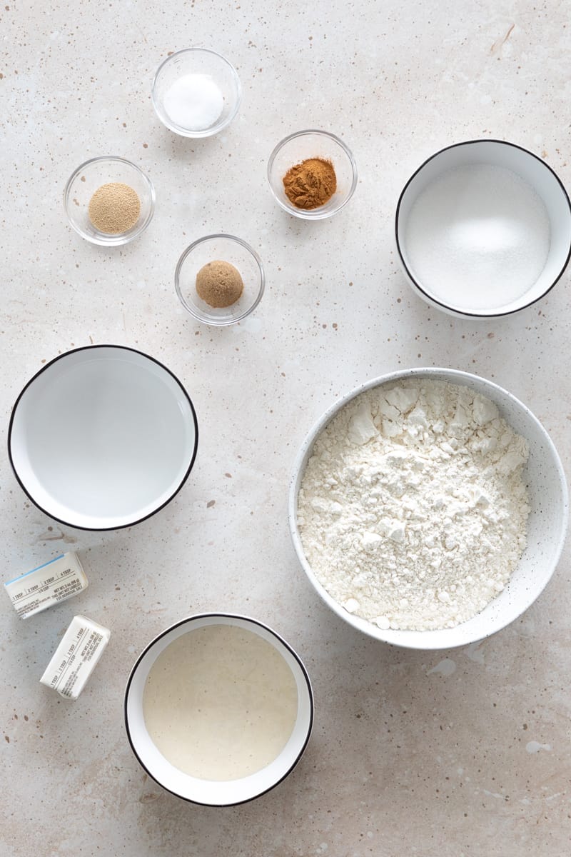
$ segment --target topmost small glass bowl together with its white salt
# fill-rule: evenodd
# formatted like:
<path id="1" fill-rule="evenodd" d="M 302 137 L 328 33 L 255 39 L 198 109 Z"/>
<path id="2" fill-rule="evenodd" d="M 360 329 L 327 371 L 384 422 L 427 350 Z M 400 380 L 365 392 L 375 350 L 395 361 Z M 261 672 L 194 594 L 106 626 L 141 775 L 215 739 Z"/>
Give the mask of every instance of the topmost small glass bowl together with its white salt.
<path id="1" fill-rule="evenodd" d="M 167 57 L 152 81 L 152 105 L 182 137 L 210 137 L 235 118 L 241 84 L 234 66 L 216 51 L 185 48 Z"/>

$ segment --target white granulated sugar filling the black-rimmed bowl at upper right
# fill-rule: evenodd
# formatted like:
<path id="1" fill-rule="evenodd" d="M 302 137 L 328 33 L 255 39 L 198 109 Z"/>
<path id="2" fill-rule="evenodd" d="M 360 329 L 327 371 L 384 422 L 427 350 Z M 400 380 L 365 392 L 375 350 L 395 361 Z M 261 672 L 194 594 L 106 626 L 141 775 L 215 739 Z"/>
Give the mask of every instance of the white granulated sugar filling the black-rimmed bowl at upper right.
<path id="1" fill-rule="evenodd" d="M 413 203 L 405 233 L 413 278 L 466 312 L 499 309 L 537 281 L 550 248 L 543 201 L 504 167 L 456 167 Z"/>

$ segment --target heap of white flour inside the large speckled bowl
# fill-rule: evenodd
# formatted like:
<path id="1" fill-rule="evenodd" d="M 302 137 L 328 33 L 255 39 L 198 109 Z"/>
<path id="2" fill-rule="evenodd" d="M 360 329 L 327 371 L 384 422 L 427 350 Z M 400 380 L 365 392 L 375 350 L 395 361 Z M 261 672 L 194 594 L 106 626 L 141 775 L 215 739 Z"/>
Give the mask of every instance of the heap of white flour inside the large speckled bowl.
<path id="1" fill-rule="evenodd" d="M 526 546 L 526 440 L 496 405 L 444 381 L 361 393 L 319 435 L 298 497 L 313 572 L 380 628 L 470 619 Z"/>

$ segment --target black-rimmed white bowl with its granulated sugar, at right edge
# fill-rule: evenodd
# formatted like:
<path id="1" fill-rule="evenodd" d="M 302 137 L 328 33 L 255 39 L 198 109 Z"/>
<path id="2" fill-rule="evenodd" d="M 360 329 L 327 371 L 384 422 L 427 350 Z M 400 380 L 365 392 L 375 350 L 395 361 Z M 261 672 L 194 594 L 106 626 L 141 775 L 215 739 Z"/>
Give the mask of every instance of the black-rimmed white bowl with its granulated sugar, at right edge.
<path id="1" fill-rule="evenodd" d="M 473 140 L 433 154 L 396 208 L 396 246 L 419 297 L 450 315 L 525 309 L 571 254 L 568 195 L 544 160 L 514 143 Z"/>

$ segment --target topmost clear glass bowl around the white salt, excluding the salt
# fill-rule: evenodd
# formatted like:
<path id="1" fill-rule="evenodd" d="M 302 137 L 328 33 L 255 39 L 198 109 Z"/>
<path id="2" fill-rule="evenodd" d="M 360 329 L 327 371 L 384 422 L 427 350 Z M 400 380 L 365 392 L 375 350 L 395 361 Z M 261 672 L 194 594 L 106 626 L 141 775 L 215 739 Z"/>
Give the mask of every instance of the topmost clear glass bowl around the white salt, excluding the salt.
<path id="1" fill-rule="evenodd" d="M 217 121 L 209 128 L 195 130 L 175 123 L 164 109 L 164 94 L 183 75 L 208 75 L 222 91 L 224 105 Z M 168 129 L 183 137 L 211 137 L 222 131 L 235 118 L 242 92 L 240 78 L 227 59 L 206 48 L 185 48 L 167 57 L 157 69 L 152 81 L 152 105 L 158 118 Z"/>

